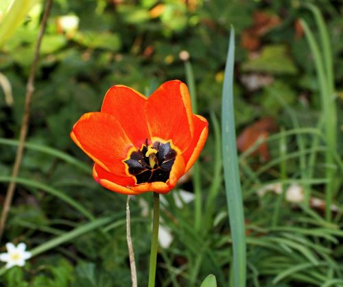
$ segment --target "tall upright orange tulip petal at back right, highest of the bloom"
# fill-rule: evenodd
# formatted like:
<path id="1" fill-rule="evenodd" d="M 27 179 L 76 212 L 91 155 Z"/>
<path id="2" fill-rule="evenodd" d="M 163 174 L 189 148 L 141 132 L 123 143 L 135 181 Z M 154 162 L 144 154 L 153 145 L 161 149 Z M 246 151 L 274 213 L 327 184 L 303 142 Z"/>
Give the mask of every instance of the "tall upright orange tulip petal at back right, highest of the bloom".
<path id="1" fill-rule="evenodd" d="M 145 117 L 150 136 L 172 140 L 181 151 L 193 135 L 193 114 L 188 88 L 178 80 L 165 82 L 147 99 Z"/>

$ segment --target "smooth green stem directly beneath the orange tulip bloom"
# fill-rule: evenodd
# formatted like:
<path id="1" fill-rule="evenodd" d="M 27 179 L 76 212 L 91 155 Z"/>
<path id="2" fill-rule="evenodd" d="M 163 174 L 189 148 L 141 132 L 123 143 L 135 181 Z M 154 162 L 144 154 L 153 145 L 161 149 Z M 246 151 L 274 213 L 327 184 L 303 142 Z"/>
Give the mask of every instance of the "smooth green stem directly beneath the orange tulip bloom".
<path id="1" fill-rule="evenodd" d="M 150 249 L 150 268 L 148 287 L 155 286 L 156 258 L 158 247 L 158 225 L 160 224 L 160 195 L 154 192 L 154 215 L 152 218 L 152 241 Z"/>

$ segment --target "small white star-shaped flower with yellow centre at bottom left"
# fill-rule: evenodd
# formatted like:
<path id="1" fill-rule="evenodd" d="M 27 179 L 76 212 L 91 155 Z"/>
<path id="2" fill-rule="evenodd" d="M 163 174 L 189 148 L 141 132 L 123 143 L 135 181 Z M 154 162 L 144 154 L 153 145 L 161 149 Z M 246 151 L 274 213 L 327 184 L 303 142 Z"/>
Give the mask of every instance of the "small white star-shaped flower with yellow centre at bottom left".
<path id="1" fill-rule="evenodd" d="M 25 251 L 25 243 L 19 243 L 17 247 L 11 242 L 6 243 L 7 253 L 0 254 L 0 261 L 7 262 L 5 268 L 10 269 L 13 266 L 24 266 L 25 260 L 31 258 L 31 252 Z"/>

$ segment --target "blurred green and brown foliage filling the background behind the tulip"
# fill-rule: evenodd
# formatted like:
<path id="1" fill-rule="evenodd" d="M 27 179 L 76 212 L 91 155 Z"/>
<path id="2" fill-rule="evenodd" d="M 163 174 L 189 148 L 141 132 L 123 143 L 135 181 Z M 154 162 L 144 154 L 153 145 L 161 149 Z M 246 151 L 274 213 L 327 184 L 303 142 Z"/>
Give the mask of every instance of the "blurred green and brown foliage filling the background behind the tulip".
<path id="1" fill-rule="evenodd" d="M 342 114 L 342 3 L 306 1 L 309 2 L 320 8 L 329 30 L 337 108 L 338 114 Z M 237 34 L 234 88 L 236 127 L 241 135 L 239 150 L 246 152 L 261 134 L 268 138 L 280 130 L 294 128 L 292 116 L 297 119 L 298 127 L 317 127 L 319 85 L 299 19 L 305 18 L 310 27 L 315 25 L 304 3 L 300 0 L 55 0 L 40 49 L 28 142 L 69 153 L 75 161 L 86 162 L 88 169 L 84 165 L 80 168 L 80 162 L 70 164 L 28 148 L 20 177 L 56 188 L 95 217 L 117 213 L 122 216 L 112 226 L 104 227 L 109 237 L 102 232 L 90 232 L 75 238 L 37 256 L 24 269 L 11 269 L 0 278 L 2 286 L 130 286 L 123 213 L 126 197 L 102 190 L 93 182 L 91 162 L 73 145 L 69 132 L 84 112 L 99 110 L 106 90 L 114 84 L 124 84 L 149 95 L 168 79 L 185 82 L 181 51 L 190 55 L 198 113 L 206 118 L 216 114 L 219 118 L 230 25 Z M 6 87 L 2 84 L 0 138 L 19 137 L 25 83 L 42 10 L 43 3 L 38 1 L 0 50 L 0 72 L 10 82 L 14 98 L 10 105 L 5 101 Z M 0 21 L 4 14 L 5 1 L 2 1 Z M 314 33 L 318 36 L 316 29 Z M 337 127 L 340 132 L 342 124 L 341 117 Z M 202 232 L 193 230 L 193 203 L 184 202 L 183 208 L 179 208 L 178 197 L 172 195 L 178 195 L 177 191 L 165 196 L 163 224 L 174 240 L 170 246 L 161 247 L 158 255 L 158 286 L 200 286 L 209 273 L 217 276 L 219 286 L 225 286 L 229 278 L 231 251 L 224 186 L 217 177 L 213 179 L 217 140 L 212 119 L 200 161 L 204 206 L 213 180 L 219 180 L 220 184 L 216 187 L 215 208 L 210 208 L 212 214 L 205 212 L 206 226 Z M 294 135 L 283 140 L 287 154 L 298 151 Z M 303 136 L 305 146 L 313 140 L 310 135 Z M 9 176 L 12 170 L 16 149 L 11 145 L 0 143 L 1 178 Z M 338 149 L 340 156 L 342 150 Z M 306 208 L 301 202 L 284 201 L 279 225 L 271 227 L 274 203 L 281 195 L 277 195 L 275 187 L 270 188 L 274 192 L 263 197 L 257 191 L 281 180 L 279 163 L 270 164 L 280 157 L 280 144 L 268 142 L 255 155 L 241 157 L 249 166 L 241 177 L 248 235 L 248 286 L 320 286 L 327 278 L 340 277 L 343 272 L 340 184 L 335 190 L 334 223 L 322 218 L 324 203 L 319 208 Z M 300 177 L 299 156 L 287 160 L 287 179 Z M 311 179 L 323 178 L 322 158 L 318 152 Z M 5 190 L 8 182 L 0 181 Z M 311 193 L 317 199 L 324 198 L 323 185 L 324 181 L 319 181 L 311 186 Z M 185 178 L 179 189 L 192 192 L 190 179 Z M 1 202 L 4 194 L 1 192 Z M 146 202 L 149 213 L 150 195 L 136 197 L 131 203 L 140 286 L 147 282 L 150 250 L 150 217 L 141 216 Z M 44 188 L 19 184 L 1 246 L 8 241 L 25 241 L 32 249 L 86 221 L 84 214 Z M 275 280 L 292 266 L 299 267 Z M 342 282 L 337 286 L 343 286 Z"/>

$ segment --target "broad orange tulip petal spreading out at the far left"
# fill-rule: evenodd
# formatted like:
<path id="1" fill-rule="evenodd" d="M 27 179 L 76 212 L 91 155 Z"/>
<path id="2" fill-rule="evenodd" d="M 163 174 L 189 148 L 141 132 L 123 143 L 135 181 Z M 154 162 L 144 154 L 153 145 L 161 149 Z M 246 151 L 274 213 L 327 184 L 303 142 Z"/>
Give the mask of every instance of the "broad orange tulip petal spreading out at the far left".
<path id="1" fill-rule="evenodd" d="M 122 160 L 132 142 L 114 116 L 102 112 L 84 114 L 73 126 L 71 138 L 103 169 L 126 176 Z"/>

